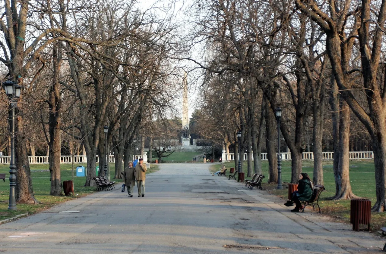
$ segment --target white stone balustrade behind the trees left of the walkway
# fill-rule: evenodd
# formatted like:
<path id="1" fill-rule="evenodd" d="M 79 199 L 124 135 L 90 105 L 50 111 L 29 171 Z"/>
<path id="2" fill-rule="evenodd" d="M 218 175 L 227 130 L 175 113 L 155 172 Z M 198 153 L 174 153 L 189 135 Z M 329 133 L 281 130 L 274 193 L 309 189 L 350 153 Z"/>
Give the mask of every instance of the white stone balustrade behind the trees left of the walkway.
<path id="1" fill-rule="evenodd" d="M 28 156 L 30 164 L 48 164 L 49 163 L 48 157 L 49 156 Z M 114 155 L 109 155 L 108 157 L 109 157 L 110 163 L 115 163 Z M 74 163 L 86 163 L 87 162 L 86 156 L 83 156 L 83 155 L 75 155 L 74 157 L 71 155 L 62 155 L 62 156 L 60 156 L 60 162 L 61 163 L 72 163 L 73 158 L 74 158 Z M 144 152 L 143 155 L 133 155 L 132 160 L 134 161 L 134 160 L 137 160 L 139 158 L 143 158 L 144 163 L 147 163 L 146 152 Z M 0 164 L 9 164 L 10 160 L 11 160 L 10 156 L 0 156 Z M 95 162 L 97 162 L 97 163 L 99 162 L 98 155 L 95 158 Z"/>

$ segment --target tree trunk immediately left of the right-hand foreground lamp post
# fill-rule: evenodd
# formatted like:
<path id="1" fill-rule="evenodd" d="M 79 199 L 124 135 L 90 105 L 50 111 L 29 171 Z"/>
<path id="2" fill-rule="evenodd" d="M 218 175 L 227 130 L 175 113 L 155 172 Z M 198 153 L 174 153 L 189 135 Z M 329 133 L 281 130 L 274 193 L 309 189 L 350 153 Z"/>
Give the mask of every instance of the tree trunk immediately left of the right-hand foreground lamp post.
<path id="1" fill-rule="evenodd" d="M 278 156 L 276 155 L 276 124 L 272 110 L 265 108 L 265 119 L 266 119 L 266 148 L 267 158 L 269 164 L 269 183 L 278 182 Z"/>

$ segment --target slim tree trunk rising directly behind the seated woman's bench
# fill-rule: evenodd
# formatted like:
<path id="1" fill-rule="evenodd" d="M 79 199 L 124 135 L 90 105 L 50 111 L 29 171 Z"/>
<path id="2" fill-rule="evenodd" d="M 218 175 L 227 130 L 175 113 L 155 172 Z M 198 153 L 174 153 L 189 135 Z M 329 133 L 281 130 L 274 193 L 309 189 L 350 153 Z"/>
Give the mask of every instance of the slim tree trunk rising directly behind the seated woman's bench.
<path id="1" fill-rule="evenodd" d="M 323 84 L 322 84 L 323 86 Z M 324 93 L 322 91 L 321 93 Z M 323 96 L 320 100 L 313 100 L 313 157 L 314 157 L 314 168 L 313 168 L 313 183 L 317 185 L 323 185 L 323 112 L 324 112 L 324 100 Z"/>

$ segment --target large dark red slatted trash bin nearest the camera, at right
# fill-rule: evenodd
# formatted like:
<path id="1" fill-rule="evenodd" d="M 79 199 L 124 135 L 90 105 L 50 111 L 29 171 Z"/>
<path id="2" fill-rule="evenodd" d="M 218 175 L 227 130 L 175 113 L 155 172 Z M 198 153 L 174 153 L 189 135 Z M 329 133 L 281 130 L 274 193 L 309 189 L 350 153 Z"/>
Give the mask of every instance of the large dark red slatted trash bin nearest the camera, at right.
<path id="1" fill-rule="evenodd" d="M 368 225 L 370 231 L 371 200 L 353 198 L 350 203 L 350 223 L 352 230 L 359 231 L 359 224 Z"/>

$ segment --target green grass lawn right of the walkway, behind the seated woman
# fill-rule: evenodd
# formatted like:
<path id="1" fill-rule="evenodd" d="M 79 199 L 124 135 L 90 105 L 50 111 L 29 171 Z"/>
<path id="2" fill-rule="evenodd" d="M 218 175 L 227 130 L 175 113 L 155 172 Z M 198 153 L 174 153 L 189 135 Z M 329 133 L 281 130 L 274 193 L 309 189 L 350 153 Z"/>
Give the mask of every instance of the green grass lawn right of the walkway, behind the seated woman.
<path id="1" fill-rule="evenodd" d="M 227 162 L 225 166 L 229 169 L 235 167 L 234 162 Z M 213 165 L 212 171 L 215 172 L 220 168 L 220 165 Z M 282 165 L 282 179 L 283 190 L 276 190 L 276 183 L 267 183 L 268 179 L 268 161 L 263 161 L 262 164 L 264 178 L 262 187 L 278 196 L 283 197 L 283 203 L 288 197 L 288 188 L 285 183 L 291 181 L 291 161 L 283 161 Z M 243 164 L 243 172 L 247 175 L 247 162 Z M 313 161 L 303 161 L 303 173 L 308 173 L 310 178 L 313 176 Z M 247 178 L 247 177 L 246 177 Z M 339 221 L 346 223 L 350 222 L 350 200 L 326 200 L 326 197 L 332 197 L 335 195 L 335 180 L 334 172 L 332 168 L 332 161 L 323 162 L 323 178 L 324 187 L 326 190 L 322 193 L 322 197 L 319 201 L 323 214 L 331 215 Z M 352 160 L 350 161 L 350 182 L 352 191 L 355 195 L 368 198 L 371 200 L 371 204 L 375 204 L 375 174 L 374 174 L 374 161 L 372 160 Z M 380 227 L 386 226 L 386 212 L 384 213 L 372 213 L 371 215 L 371 228 L 372 230 L 379 230 Z M 361 225 L 365 228 L 365 225 Z"/>

